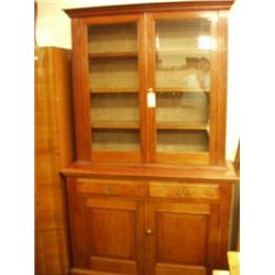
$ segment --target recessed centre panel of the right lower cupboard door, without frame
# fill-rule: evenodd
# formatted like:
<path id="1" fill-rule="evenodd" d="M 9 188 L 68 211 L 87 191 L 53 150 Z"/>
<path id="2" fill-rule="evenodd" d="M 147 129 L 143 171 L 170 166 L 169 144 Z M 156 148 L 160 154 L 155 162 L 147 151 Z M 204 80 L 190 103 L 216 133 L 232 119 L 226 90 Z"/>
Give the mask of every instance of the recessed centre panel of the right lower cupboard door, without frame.
<path id="1" fill-rule="evenodd" d="M 160 212 L 156 221 L 156 262 L 206 264 L 207 216 Z"/>

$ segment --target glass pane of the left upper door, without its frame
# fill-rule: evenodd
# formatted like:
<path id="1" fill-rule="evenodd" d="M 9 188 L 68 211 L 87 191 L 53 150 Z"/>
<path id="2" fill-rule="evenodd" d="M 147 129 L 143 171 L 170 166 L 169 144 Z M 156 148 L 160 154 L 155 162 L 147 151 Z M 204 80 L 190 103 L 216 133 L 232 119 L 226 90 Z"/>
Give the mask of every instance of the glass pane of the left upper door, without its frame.
<path id="1" fill-rule="evenodd" d="M 140 150 L 136 23 L 88 28 L 94 151 Z"/>

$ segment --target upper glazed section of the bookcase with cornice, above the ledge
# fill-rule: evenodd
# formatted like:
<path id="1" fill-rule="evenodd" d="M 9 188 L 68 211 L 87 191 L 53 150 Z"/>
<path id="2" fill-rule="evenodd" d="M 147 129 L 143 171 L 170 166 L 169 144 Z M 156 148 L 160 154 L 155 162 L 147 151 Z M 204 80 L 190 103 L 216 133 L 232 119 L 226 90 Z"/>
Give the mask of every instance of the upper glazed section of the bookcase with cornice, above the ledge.
<path id="1" fill-rule="evenodd" d="M 230 4 L 66 11 L 77 161 L 224 164 Z"/>

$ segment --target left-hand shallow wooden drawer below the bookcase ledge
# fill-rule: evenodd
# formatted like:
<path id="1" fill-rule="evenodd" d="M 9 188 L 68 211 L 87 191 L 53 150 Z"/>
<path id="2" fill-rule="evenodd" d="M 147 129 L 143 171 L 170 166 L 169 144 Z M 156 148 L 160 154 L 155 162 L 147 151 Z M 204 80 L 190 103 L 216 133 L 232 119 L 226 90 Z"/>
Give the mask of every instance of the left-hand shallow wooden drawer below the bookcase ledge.
<path id="1" fill-rule="evenodd" d="M 79 195 L 111 195 L 144 197 L 144 184 L 139 180 L 112 180 L 78 178 L 76 193 Z"/>

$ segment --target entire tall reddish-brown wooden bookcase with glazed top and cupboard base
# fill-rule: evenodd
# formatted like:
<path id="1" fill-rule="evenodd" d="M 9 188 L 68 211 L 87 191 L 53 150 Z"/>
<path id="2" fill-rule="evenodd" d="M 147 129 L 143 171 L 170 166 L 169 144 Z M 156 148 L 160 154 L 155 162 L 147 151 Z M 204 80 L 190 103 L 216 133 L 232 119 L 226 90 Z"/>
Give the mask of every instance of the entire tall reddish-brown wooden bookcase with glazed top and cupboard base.
<path id="1" fill-rule="evenodd" d="M 227 266 L 231 1 L 66 10 L 76 160 L 70 274 L 207 275 Z"/>

